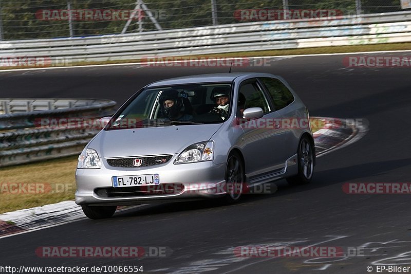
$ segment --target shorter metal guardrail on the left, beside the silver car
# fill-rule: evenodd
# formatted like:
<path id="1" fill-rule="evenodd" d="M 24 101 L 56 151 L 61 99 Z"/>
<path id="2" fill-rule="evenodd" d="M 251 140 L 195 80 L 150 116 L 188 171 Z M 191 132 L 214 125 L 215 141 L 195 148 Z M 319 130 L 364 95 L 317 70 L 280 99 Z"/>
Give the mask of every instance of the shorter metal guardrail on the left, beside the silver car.
<path id="1" fill-rule="evenodd" d="M 115 105 L 101 99 L 0 99 L 0 167 L 80 154 L 100 128 L 70 125 L 69 119 L 111 116 Z M 67 126 L 60 126 L 62 120 Z"/>

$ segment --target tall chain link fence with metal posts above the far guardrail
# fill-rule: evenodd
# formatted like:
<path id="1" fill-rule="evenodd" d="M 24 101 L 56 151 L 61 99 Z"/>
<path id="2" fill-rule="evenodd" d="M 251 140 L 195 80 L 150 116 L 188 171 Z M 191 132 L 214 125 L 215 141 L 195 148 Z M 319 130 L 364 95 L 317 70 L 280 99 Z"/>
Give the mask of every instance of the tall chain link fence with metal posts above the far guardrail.
<path id="1" fill-rule="evenodd" d="M 0 0 L 0 40 L 235 24 L 246 22 L 237 16 L 244 10 L 339 10 L 361 16 L 403 9 L 400 0 Z"/>

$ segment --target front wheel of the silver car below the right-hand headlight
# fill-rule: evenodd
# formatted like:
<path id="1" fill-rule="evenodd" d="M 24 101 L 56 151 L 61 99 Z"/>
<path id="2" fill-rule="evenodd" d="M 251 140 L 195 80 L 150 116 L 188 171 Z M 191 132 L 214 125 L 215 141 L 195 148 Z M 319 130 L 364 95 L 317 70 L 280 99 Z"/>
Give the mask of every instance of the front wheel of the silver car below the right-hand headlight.
<path id="1" fill-rule="evenodd" d="M 246 174 L 244 163 L 237 152 L 230 153 L 226 164 L 226 203 L 238 202 L 245 188 Z"/>

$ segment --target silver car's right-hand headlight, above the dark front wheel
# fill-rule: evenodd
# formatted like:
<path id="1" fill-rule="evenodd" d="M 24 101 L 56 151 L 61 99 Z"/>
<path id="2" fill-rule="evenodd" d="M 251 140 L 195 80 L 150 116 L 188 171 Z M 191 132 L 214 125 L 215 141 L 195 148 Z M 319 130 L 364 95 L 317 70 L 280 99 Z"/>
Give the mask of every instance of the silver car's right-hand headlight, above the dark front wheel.
<path id="1" fill-rule="evenodd" d="M 214 159 L 214 142 L 195 143 L 178 155 L 174 163 L 202 162 Z"/>

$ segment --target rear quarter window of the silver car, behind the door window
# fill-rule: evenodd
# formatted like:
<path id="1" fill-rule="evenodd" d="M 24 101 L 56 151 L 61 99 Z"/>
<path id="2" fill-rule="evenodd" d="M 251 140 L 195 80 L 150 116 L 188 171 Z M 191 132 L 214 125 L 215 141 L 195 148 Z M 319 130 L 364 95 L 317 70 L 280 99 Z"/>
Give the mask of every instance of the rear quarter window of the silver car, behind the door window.
<path id="1" fill-rule="evenodd" d="M 260 78 L 271 95 L 275 109 L 282 109 L 294 101 L 294 96 L 288 88 L 278 79 Z"/>

